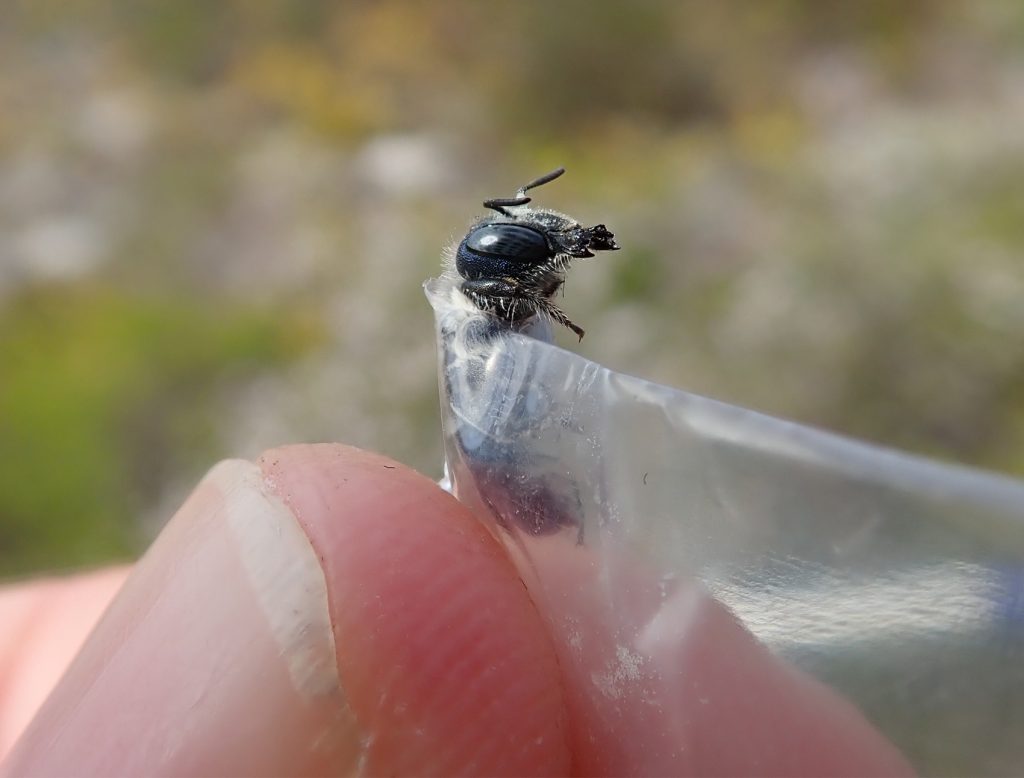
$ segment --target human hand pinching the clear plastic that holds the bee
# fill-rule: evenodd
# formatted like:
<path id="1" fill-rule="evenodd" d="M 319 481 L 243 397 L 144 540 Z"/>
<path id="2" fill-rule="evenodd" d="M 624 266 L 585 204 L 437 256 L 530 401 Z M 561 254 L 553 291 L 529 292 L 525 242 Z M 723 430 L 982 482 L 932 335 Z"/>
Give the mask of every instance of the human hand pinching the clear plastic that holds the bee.
<path id="1" fill-rule="evenodd" d="M 0 773 L 909 773 L 859 714 L 696 587 L 657 677 L 626 674 L 614 699 L 596 694 L 587 665 L 614 636 L 593 616 L 593 565 L 586 549 L 539 553 L 564 597 L 535 605 L 467 509 L 388 460 L 321 445 L 223 463 L 131 571 Z M 83 581 L 81 602 L 121 574 Z M 593 640 L 566 667 L 567 615 Z M 0 652 L 0 689 L 26 666 L 45 676 L 32 636 L 17 640 Z M 692 698 L 673 708 L 686 721 L 659 719 L 652 683 Z"/>

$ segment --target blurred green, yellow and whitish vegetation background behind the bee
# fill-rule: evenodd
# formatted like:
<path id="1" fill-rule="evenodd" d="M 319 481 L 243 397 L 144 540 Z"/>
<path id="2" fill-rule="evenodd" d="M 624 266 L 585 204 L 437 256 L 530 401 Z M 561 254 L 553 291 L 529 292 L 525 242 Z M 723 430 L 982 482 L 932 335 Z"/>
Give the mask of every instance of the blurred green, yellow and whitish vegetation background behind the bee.
<path id="1" fill-rule="evenodd" d="M 421 283 L 558 165 L 578 347 L 1024 475 L 1024 4 L 8 2 L 0 576 L 136 554 L 222 457 L 440 473 Z"/>

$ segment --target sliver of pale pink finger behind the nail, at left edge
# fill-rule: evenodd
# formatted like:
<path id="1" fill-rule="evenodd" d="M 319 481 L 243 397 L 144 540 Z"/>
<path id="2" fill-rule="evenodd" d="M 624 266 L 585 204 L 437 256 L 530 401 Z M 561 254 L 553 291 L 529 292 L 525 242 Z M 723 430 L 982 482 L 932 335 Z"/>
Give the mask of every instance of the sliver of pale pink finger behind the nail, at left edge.
<path id="1" fill-rule="evenodd" d="M 81 648 L 128 570 L 0 589 L 0 759 Z"/>

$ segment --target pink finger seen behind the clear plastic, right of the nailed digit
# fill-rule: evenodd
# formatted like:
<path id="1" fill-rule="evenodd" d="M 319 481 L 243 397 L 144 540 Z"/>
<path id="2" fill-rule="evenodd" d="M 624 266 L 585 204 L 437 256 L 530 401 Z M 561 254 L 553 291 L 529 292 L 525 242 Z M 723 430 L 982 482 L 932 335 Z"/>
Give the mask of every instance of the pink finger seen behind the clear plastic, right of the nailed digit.
<path id="1" fill-rule="evenodd" d="M 912 773 L 693 580 L 571 539 L 527 543 L 521 568 L 561 659 L 577 774 Z"/>

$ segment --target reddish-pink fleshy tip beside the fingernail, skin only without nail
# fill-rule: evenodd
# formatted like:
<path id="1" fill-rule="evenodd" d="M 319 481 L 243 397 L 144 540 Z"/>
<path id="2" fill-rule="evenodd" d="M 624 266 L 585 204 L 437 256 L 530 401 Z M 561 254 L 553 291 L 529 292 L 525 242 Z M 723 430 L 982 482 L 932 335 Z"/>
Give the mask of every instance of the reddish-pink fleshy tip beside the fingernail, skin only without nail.
<path id="1" fill-rule="evenodd" d="M 259 461 L 323 564 L 369 773 L 564 774 L 550 639 L 511 562 L 424 476 L 342 445 Z"/>

